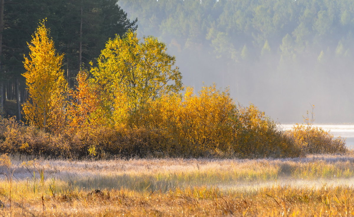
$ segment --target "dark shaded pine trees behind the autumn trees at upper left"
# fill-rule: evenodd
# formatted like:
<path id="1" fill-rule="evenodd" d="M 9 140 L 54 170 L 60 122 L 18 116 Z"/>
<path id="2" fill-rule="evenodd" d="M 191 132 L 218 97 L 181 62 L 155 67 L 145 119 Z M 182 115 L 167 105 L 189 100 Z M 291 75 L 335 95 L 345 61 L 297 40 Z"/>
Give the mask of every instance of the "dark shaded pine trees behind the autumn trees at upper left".
<path id="1" fill-rule="evenodd" d="M 87 66 L 104 48 L 108 38 L 136 30 L 116 0 L 1 0 L 0 3 L 0 110 L 21 119 L 21 104 L 28 97 L 23 55 L 38 22 L 46 25 L 64 53 L 63 70 L 70 88 L 81 66 Z M 17 102 L 17 105 L 16 105 Z"/>

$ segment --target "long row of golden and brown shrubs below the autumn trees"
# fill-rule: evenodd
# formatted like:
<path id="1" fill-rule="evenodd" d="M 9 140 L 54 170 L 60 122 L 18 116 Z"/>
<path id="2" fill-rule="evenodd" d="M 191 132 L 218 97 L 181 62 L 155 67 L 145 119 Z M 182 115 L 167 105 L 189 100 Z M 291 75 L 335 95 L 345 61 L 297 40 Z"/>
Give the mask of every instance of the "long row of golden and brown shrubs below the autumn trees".
<path id="1" fill-rule="evenodd" d="M 320 128 L 296 125 L 284 131 L 264 112 L 234 104 L 227 91 L 187 88 L 130 112 L 125 124 L 88 122 L 45 132 L 0 120 L 0 152 L 52 156 L 293 157 L 345 152 L 345 141 Z"/>

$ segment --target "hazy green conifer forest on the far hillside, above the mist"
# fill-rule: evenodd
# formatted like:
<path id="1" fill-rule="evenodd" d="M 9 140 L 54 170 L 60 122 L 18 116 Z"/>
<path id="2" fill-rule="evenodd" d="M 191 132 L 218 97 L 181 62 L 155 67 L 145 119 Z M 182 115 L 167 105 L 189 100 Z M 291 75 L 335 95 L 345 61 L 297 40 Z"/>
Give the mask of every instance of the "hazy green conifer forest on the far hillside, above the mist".
<path id="1" fill-rule="evenodd" d="M 155 32 L 179 49 L 212 48 L 215 57 L 254 61 L 353 55 L 354 2 L 349 0 L 121 0 L 139 32 Z M 172 39 L 171 39 L 172 38 Z"/>

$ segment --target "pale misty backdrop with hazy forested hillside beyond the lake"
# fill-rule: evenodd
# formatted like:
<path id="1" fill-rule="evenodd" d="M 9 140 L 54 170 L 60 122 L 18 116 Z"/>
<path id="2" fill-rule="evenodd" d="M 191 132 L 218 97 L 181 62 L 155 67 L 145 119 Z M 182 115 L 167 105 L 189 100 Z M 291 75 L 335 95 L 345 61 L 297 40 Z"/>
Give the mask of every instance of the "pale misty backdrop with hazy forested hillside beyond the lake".
<path id="1" fill-rule="evenodd" d="M 118 4 L 138 18 L 139 37 L 153 35 L 167 44 L 185 86 L 229 88 L 235 101 L 252 103 L 279 123 L 302 123 L 311 105 L 315 123 L 354 123 L 354 19 L 346 23 L 349 12 L 343 12 L 349 6 L 322 0 L 246 2 Z M 264 8 L 269 10 L 260 11 Z"/>

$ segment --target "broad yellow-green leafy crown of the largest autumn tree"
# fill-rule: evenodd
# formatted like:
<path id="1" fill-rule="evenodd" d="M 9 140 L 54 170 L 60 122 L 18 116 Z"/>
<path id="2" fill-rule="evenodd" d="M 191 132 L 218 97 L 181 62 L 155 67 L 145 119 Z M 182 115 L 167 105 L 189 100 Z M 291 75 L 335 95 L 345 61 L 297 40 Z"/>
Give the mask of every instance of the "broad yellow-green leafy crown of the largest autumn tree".
<path id="1" fill-rule="evenodd" d="M 182 76 L 174 64 L 175 57 L 166 53 L 166 44 L 152 36 L 140 42 L 135 32 L 128 31 L 122 38 L 108 40 L 91 73 L 106 112 L 114 115 L 125 107 L 118 112 L 124 114 L 148 100 L 181 90 Z"/>

